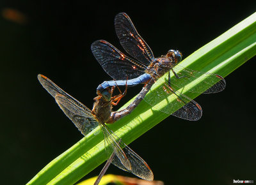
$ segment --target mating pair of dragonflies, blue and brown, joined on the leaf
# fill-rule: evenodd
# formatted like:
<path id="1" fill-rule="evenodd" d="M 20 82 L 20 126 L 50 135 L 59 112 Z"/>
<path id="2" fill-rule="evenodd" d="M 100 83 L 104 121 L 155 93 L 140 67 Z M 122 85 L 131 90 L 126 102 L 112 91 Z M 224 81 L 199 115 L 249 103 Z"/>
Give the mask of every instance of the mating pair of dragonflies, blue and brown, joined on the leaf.
<path id="1" fill-rule="evenodd" d="M 97 87 L 98 96 L 94 99 L 92 110 L 65 93 L 44 75 L 38 75 L 38 80 L 83 135 L 100 126 L 105 144 L 110 146 L 106 147 L 108 157 L 112 152 L 115 154 L 112 161 L 114 165 L 150 181 L 153 180 L 154 175 L 147 163 L 127 147 L 105 123 L 115 122 L 130 114 L 141 100 L 159 108 L 157 107 L 159 99 L 168 100 L 172 97 L 175 101 L 159 110 L 182 119 L 196 121 L 202 116 L 202 108 L 191 98 L 180 93 L 180 89 L 193 93 L 217 93 L 225 89 L 225 80 L 220 75 L 177 66 L 182 58 L 178 50 L 169 50 L 165 56 L 155 58 L 126 13 L 116 15 L 115 29 L 122 47 L 131 57 L 125 56 L 107 41 L 99 40 L 92 44 L 93 55 L 106 73 L 115 79 L 105 81 Z M 161 78 L 165 73 L 168 73 L 167 78 Z M 200 87 L 187 85 L 197 80 L 201 82 Z M 125 93 L 120 92 L 113 96 L 114 87 L 137 84 L 145 84 L 145 86 L 135 100 L 124 110 L 113 112 L 112 106 L 116 105 L 126 93 L 125 89 Z M 151 89 L 154 84 L 157 88 Z M 149 91 L 151 91 L 150 96 L 146 96 Z M 181 108 L 174 111 L 173 108 L 177 106 Z"/>

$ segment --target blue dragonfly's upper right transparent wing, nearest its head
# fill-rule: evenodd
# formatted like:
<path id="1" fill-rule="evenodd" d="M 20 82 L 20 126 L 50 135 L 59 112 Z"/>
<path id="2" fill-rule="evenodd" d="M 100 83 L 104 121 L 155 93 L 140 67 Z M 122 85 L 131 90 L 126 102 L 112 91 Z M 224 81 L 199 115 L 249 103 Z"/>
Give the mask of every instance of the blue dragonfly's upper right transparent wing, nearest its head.
<path id="1" fill-rule="evenodd" d="M 171 79 L 170 83 L 174 89 L 182 88 L 184 91 L 192 93 L 209 94 L 223 91 L 226 87 L 226 82 L 220 75 L 194 71 L 182 66 L 175 66 L 173 70 L 180 77 Z M 191 85 L 187 85 L 190 82 L 200 83 L 200 85 L 191 87 Z"/>

